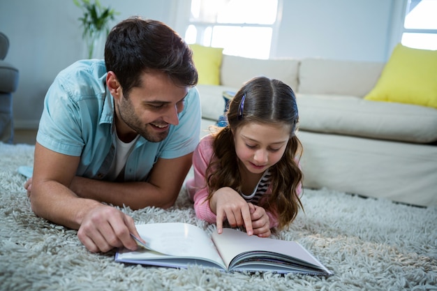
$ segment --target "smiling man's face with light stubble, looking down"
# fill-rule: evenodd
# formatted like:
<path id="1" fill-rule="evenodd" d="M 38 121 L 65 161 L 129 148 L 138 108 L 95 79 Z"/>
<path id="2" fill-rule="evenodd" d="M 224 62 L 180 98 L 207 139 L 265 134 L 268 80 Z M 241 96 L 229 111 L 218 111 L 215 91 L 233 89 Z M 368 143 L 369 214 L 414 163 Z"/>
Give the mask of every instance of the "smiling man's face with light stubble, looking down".
<path id="1" fill-rule="evenodd" d="M 164 140 L 170 124 L 179 124 L 177 114 L 184 109 L 187 93 L 187 87 L 178 86 L 161 71 L 143 73 L 140 87 L 133 87 L 128 96 L 114 98 L 120 140 L 129 142 L 137 134 L 150 142 Z"/>

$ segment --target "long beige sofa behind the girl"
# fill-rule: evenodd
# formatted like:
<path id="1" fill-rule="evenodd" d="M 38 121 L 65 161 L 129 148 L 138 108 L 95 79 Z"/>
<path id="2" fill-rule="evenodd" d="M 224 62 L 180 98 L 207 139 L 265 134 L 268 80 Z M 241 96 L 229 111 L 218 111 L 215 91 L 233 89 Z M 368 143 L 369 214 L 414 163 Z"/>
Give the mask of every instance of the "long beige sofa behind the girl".
<path id="1" fill-rule="evenodd" d="M 304 186 L 437 205 L 437 110 L 364 100 L 383 63 L 223 55 L 220 82 L 199 84 L 202 133 L 223 114 L 223 91 L 257 75 L 295 90 Z"/>

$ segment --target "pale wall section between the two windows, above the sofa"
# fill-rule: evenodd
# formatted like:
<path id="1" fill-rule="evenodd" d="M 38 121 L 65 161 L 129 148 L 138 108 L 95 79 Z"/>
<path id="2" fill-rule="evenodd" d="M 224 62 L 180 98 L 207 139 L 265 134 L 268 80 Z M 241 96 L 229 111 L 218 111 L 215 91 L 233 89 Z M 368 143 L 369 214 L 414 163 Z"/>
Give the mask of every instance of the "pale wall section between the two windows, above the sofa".
<path id="1" fill-rule="evenodd" d="M 276 57 L 386 61 L 394 1 L 284 0 Z"/>

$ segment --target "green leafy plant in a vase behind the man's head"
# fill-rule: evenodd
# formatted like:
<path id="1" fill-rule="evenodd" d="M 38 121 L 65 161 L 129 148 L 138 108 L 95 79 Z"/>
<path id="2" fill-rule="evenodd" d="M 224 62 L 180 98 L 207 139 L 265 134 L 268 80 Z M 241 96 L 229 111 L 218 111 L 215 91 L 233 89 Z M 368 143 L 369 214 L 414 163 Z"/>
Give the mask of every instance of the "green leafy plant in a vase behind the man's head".
<path id="1" fill-rule="evenodd" d="M 110 31 L 109 22 L 114 20 L 114 15 L 119 14 L 114 9 L 101 6 L 98 0 L 73 0 L 75 6 L 83 11 L 78 20 L 83 27 L 82 37 L 87 45 L 88 58 L 91 59 L 99 43 L 105 43 L 106 36 Z"/>

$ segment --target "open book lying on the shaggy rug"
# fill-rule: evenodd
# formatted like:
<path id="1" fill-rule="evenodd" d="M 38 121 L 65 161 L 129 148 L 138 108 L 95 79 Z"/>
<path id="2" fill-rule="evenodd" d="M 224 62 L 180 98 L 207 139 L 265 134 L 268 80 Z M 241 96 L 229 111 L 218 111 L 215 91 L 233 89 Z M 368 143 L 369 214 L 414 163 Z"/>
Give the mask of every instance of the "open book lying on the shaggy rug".
<path id="1" fill-rule="evenodd" d="M 200 227 L 187 223 L 136 225 L 147 241 L 139 251 L 122 249 L 116 262 L 186 268 L 189 264 L 223 271 L 273 271 L 310 275 L 332 275 L 323 264 L 295 241 L 249 236 L 224 228 L 210 238 Z"/>

